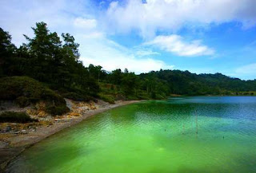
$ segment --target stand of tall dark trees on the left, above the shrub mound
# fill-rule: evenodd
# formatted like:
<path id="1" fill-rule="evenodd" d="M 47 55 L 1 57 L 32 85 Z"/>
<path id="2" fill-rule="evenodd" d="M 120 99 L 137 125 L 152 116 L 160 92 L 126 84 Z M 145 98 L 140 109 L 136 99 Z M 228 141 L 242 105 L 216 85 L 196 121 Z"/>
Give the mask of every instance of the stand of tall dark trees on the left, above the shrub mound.
<path id="1" fill-rule="evenodd" d="M 2 47 L 9 51 L 0 62 L 3 69 L 0 74 L 28 76 L 48 84 L 50 88 L 79 91 L 85 97 L 97 96 L 99 77 L 95 78 L 94 70 L 85 68 L 79 61 L 79 45 L 74 42 L 74 37 L 70 33 L 62 33 L 62 43 L 58 34 L 51 33 L 44 22 L 36 23 L 32 29 L 34 37 L 25 35 L 27 43 L 18 49 L 10 49 L 10 35 L 0 29 L 0 36 L 4 36 L 0 37 Z M 99 71 L 102 75 L 102 70 Z"/>

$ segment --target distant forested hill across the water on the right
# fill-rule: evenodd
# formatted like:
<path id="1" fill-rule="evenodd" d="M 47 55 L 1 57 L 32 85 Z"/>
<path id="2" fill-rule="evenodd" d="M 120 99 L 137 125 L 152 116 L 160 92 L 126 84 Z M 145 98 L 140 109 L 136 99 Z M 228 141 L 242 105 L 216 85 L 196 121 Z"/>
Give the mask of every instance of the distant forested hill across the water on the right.
<path id="1" fill-rule="evenodd" d="M 156 77 L 168 84 L 170 93 L 178 95 L 254 95 L 256 81 L 242 81 L 221 73 L 195 74 L 189 71 L 160 70 L 140 77 Z"/>

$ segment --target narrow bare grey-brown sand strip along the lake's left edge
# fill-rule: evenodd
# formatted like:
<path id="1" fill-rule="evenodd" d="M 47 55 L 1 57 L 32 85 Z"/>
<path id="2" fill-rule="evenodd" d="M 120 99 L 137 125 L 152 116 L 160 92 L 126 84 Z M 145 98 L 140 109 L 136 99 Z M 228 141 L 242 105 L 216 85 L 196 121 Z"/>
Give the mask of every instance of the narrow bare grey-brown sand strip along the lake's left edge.
<path id="1" fill-rule="evenodd" d="M 95 109 L 82 112 L 81 116 L 72 116 L 69 118 L 62 118 L 54 120 L 54 123 L 47 126 L 40 126 L 35 131 L 18 134 L 4 134 L 0 136 L 0 172 L 3 172 L 6 165 L 10 163 L 12 159 L 20 155 L 27 147 L 30 147 L 40 140 L 45 139 L 48 136 L 53 135 L 56 132 L 61 131 L 64 128 L 69 128 L 74 124 L 78 124 L 82 120 L 86 120 L 90 116 L 94 116 L 100 112 L 105 112 L 111 108 L 117 108 L 126 104 L 133 104 L 139 102 L 138 100 L 122 101 L 118 100 L 115 104 L 101 104 Z M 3 135 L 3 134 L 2 134 Z"/>

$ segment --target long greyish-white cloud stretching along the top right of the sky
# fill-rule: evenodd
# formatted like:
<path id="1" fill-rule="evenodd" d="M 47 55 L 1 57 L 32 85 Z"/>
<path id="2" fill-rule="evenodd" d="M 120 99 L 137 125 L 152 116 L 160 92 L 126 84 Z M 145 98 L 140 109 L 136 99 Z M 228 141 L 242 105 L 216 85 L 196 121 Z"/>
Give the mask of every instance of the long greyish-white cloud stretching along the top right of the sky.
<path id="1" fill-rule="evenodd" d="M 111 2 L 106 12 L 107 26 L 118 32 L 137 29 L 143 37 L 157 30 L 175 31 L 183 26 L 241 22 L 244 28 L 256 24 L 255 0 L 127 0 Z"/>

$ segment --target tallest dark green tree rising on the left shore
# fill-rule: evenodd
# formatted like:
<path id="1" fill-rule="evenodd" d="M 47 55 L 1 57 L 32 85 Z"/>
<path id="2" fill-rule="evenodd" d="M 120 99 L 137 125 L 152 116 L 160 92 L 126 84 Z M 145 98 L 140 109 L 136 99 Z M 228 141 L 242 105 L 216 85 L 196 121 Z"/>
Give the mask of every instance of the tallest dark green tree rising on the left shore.
<path id="1" fill-rule="evenodd" d="M 28 41 L 25 46 L 28 48 L 30 56 L 33 56 L 32 77 L 39 81 L 51 82 L 56 79 L 54 73 L 57 73 L 59 64 L 62 63 L 61 46 L 62 41 L 57 33 L 50 33 L 45 22 L 36 23 L 32 27 L 34 37 L 26 37 Z"/>

